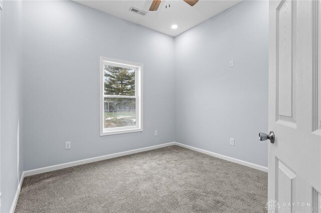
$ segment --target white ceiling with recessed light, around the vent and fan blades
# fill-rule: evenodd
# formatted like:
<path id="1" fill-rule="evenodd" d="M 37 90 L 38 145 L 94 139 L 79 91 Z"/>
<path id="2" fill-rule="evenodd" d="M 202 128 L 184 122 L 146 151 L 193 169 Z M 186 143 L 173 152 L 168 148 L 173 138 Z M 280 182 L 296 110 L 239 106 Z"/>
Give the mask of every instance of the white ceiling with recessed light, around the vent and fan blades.
<path id="1" fill-rule="evenodd" d="M 199 0 L 193 7 L 183 0 L 163 0 L 157 11 L 148 11 L 151 0 L 74 0 L 122 19 L 176 36 L 241 0 Z M 171 7 L 165 8 L 165 5 Z M 147 14 L 129 11 L 134 6 Z M 177 24 L 177 29 L 172 29 Z"/>

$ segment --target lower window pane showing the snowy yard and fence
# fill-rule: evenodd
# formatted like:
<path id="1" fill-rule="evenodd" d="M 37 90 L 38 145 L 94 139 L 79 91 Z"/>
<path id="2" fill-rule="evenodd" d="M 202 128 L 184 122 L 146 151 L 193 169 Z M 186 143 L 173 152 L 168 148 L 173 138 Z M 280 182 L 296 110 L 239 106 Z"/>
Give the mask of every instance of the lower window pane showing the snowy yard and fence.
<path id="1" fill-rule="evenodd" d="M 104 98 L 104 128 L 134 125 L 136 125 L 136 98 Z"/>

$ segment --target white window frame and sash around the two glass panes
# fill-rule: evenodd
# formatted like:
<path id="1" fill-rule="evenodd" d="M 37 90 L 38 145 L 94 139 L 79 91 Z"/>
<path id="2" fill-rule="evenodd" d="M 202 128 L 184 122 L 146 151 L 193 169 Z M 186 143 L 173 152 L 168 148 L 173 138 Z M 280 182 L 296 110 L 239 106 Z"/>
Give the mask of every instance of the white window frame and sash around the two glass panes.
<path id="1" fill-rule="evenodd" d="M 104 65 L 118 66 L 124 68 L 135 69 L 135 95 L 110 95 L 105 94 L 104 84 Z M 100 136 L 110 134 L 121 134 L 142 131 L 142 71 L 143 64 L 130 61 L 118 60 L 108 57 L 100 56 Z M 124 127 L 111 127 L 104 128 L 104 97 L 124 97 L 124 98 L 136 98 L 136 125 L 124 126 Z"/>

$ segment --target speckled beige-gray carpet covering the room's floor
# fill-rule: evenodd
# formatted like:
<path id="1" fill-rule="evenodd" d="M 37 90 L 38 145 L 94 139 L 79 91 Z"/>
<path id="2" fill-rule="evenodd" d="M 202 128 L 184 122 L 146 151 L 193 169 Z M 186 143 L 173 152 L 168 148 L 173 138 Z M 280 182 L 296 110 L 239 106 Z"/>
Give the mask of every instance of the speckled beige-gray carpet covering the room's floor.
<path id="1" fill-rule="evenodd" d="M 266 212 L 267 173 L 169 146 L 28 176 L 16 212 Z"/>

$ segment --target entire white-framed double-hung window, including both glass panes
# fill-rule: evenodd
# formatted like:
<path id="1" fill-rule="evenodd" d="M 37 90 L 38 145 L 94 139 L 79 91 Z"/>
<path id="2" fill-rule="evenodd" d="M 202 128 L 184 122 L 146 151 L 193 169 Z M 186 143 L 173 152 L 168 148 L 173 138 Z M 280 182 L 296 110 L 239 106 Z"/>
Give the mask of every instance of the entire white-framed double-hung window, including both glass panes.
<path id="1" fill-rule="evenodd" d="M 142 131 L 142 67 L 100 57 L 100 135 Z"/>

